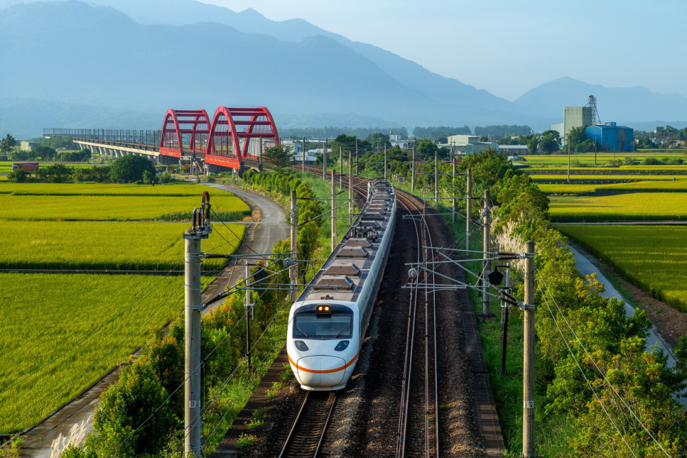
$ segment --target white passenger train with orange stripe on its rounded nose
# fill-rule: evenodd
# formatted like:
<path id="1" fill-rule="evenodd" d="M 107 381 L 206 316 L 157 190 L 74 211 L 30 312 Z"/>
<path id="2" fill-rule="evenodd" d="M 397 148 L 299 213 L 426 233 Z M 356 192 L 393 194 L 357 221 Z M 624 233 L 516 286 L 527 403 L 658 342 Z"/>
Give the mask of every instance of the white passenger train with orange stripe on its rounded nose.
<path id="1" fill-rule="evenodd" d="M 395 222 L 394 188 L 370 182 L 361 214 L 291 306 L 286 352 L 303 389 L 346 386 L 370 323 Z"/>

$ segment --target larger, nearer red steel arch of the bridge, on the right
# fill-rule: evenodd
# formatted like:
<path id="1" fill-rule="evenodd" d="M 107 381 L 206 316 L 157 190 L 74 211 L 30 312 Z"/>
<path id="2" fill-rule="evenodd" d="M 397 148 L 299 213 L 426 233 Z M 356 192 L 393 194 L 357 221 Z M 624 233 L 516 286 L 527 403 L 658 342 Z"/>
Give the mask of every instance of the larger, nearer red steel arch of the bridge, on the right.
<path id="1" fill-rule="evenodd" d="M 240 169 L 243 159 L 260 159 L 264 148 L 279 143 L 274 118 L 264 106 L 220 106 L 212 118 L 205 163 Z"/>

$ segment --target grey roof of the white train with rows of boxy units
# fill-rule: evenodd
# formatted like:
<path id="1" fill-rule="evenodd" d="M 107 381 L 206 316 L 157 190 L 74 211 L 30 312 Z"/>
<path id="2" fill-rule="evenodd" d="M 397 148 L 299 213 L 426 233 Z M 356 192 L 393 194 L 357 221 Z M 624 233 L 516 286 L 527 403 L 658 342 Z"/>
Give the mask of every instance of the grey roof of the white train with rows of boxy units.
<path id="1" fill-rule="evenodd" d="M 374 181 L 368 186 L 368 201 L 360 215 L 297 301 L 357 301 L 389 225 L 395 201 L 390 183 Z"/>

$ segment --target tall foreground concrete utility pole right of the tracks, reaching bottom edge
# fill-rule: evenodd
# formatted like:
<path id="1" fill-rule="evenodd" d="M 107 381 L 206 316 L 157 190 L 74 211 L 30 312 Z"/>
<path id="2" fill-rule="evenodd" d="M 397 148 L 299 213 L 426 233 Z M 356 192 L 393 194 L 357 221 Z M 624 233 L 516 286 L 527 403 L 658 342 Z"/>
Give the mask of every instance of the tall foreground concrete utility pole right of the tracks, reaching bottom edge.
<path id="1" fill-rule="evenodd" d="M 534 242 L 525 244 L 525 308 L 522 378 L 522 456 L 534 453 Z"/>

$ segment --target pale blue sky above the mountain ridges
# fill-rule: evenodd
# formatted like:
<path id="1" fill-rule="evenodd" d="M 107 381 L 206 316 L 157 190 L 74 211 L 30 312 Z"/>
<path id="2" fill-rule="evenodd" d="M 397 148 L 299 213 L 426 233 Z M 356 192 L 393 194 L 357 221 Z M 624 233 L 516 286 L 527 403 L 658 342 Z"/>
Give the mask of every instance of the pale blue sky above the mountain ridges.
<path id="1" fill-rule="evenodd" d="M 684 0 L 201 0 L 302 18 L 514 100 L 561 76 L 687 95 Z"/>

